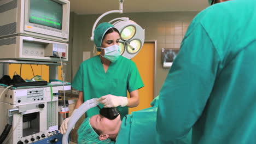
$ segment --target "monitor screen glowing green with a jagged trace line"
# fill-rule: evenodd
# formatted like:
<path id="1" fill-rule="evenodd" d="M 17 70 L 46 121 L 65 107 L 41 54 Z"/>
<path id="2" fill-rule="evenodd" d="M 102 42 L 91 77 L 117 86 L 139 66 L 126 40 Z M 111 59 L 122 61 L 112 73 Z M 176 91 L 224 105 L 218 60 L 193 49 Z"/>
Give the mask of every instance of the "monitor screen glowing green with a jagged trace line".
<path id="1" fill-rule="evenodd" d="M 52 0 L 30 1 L 30 23 L 62 28 L 62 4 Z"/>

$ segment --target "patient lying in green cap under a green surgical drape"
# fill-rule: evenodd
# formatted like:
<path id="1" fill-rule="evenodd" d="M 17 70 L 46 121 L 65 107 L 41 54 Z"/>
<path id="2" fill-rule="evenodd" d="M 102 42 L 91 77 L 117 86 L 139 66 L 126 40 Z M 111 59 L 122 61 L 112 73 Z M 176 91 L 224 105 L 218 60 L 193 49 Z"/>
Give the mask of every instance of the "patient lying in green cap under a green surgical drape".
<path id="1" fill-rule="evenodd" d="M 155 144 L 156 112 L 158 110 L 158 97 L 148 109 L 132 112 L 121 121 L 120 116 L 109 120 L 101 115 L 86 118 L 78 129 L 78 144 L 129 144 L 147 143 Z M 175 144 L 191 142 L 191 134 L 183 139 L 174 141 Z"/>

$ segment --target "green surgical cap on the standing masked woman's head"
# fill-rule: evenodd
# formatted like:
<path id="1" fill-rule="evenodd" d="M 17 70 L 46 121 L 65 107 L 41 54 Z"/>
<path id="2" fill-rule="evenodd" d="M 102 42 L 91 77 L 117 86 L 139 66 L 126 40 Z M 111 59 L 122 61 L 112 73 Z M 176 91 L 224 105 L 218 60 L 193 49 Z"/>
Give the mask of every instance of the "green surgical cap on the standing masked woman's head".
<path id="1" fill-rule="evenodd" d="M 108 29 L 114 27 L 108 22 L 103 22 L 100 25 L 98 25 L 94 30 L 94 44 L 96 47 L 101 47 L 103 37 L 105 33 L 108 31 Z M 97 51 L 100 51 L 100 49 L 97 49 Z"/>

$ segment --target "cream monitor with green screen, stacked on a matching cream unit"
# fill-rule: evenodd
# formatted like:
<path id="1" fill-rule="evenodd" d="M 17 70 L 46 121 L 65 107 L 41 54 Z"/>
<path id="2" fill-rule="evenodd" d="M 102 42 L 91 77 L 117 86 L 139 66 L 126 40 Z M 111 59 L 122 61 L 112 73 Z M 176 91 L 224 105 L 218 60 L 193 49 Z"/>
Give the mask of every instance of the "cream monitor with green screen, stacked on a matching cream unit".
<path id="1" fill-rule="evenodd" d="M 0 1 L 0 59 L 68 61 L 67 0 Z"/>

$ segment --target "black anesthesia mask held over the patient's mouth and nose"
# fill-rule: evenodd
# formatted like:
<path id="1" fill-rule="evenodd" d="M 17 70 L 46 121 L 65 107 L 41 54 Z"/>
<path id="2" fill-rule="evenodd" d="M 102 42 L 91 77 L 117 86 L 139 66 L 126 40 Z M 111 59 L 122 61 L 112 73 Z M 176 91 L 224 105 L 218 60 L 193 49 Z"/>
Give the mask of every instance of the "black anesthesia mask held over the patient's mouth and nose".
<path id="1" fill-rule="evenodd" d="M 103 117 L 106 117 L 110 120 L 115 119 L 118 115 L 120 115 L 117 107 L 103 107 L 102 109 L 100 108 L 100 106 L 98 106 L 98 108 L 100 109 L 100 114 Z"/>

